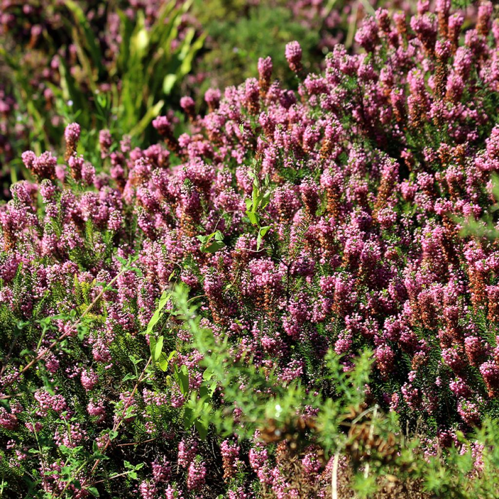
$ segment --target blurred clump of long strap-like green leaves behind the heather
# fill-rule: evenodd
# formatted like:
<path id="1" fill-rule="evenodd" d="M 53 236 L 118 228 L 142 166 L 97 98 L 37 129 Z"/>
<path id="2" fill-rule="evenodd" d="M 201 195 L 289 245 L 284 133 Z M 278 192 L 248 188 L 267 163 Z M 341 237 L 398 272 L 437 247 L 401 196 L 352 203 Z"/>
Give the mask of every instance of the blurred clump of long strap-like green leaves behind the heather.
<path id="1" fill-rule="evenodd" d="M 53 94 L 53 108 L 48 113 L 46 99 L 41 95 L 34 98 L 32 68 L 22 63 L 23 50 L 8 53 L 0 48 L 0 60 L 9 68 L 8 78 L 19 106 L 16 116 L 29 131 L 28 142 L 16 147 L 37 154 L 52 147 L 61 150 L 64 126 L 74 121 L 89 131 L 82 137 L 78 152 L 95 163 L 101 129 L 109 129 L 114 137 L 128 134 L 134 145 L 151 143 L 155 133 L 152 119 L 165 111 L 167 103 L 171 107 L 168 98 L 191 71 L 205 39 L 194 27 L 187 28 L 179 39 L 182 16 L 192 2 L 177 3 L 162 2 L 150 26 L 142 10 L 131 19 L 115 7 L 120 22 L 119 45 L 109 61 L 83 7 L 65 0 L 67 15 L 61 29 L 75 47 L 76 64 L 58 57 L 58 83 L 44 82 Z M 52 56 L 59 48 L 57 40 L 46 36 L 47 51 Z M 178 92 L 175 98 L 178 100 Z M 54 121 L 54 115 L 62 120 Z M 14 165 L 22 169 L 20 162 Z"/>

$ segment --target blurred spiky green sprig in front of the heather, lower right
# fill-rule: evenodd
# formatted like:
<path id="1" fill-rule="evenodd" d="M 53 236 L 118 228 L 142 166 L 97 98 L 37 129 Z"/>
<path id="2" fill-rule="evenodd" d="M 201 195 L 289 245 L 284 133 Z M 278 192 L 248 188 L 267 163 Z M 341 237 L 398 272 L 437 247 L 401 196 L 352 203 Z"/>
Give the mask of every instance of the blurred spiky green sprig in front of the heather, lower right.
<path id="1" fill-rule="evenodd" d="M 178 309 L 177 318 L 183 320 L 185 327 L 192 331 L 193 346 L 204 354 L 204 382 L 199 389 L 199 396 L 193 394 L 185 410 L 186 427 L 194 424 L 202 438 L 207 436 L 208 422 L 212 423 L 216 433 L 222 436 L 237 435 L 241 443 L 250 441 L 255 430 L 264 431 L 269 425 L 275 427 L 275 432 L 284 435 L 305 407 L 314 408 L 317 415 L 308 437 L 301 437 L 307 438 L 303 444 L 313 442 L 319 445 L 328 457 L 346 456 L 352 465 L 349 483 L 356 497 L 377 497 L 387 476 L 396 477 L 401 483 L 419 484 L 421 492 L 431 497 L 497 497 L 497 422 L 486 420 L 477 434 L 471 436 L 471 440 L 458 433 L 459 445 L 426 457 L 419 436 L 404 437 L 395 414 L 384 414 L 378 406 L 366 407 L 365 387 L 370 380 L 371 352 L 363 352 L 347 372 L 342 368 L 340 357 L 329 352 L 321 385 L 329 387 L 332 396 L 329 390 L 328 393 L 312 394 L 297 381 L 282 385 L 274 373 L 255 367 L 249 358 L 243 357 L 235 362 L 230 354 L 228 338 L 215 338 L 209 329 L 201 326 L 201 317 L 196 313 L 198 307 L 188 299 L 187 288 L 177 286 L 172 297 Z M 182 384 L 180 373 L 176 376 L 179 384 Z M 223 405 L 213 400 L 215 386 L 221 387 L 224 392 Z M 242 414 L 238 418 L 234 417 L 236 408 Z M 352 411 L 353 415 L 349 416 Z M 387 461 L 382 451 L 364 444 L 362 437 L 352 432 L 356 426 L 367 427 L 371 438 L 377 442 L 390 442 L 390 450 L 396 452 L 391 461 Z M 351 429 L 348 434 L 345 427 Z M 479 465 L 481 471 L 478 473 L 475 471 L 471 446 L 483 449 L 482 465 Z M 351 453 L 352 449 L 357 448 L 364 454 L 356 465 Z"/>

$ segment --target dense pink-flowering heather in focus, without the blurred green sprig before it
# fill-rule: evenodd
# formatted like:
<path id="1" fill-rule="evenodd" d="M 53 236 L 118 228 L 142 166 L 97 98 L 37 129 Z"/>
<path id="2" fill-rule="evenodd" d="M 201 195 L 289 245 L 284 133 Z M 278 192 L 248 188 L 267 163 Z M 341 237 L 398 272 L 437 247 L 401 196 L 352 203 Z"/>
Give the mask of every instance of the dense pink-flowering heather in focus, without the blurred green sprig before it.
<path id="1" fill-rule="evenodd" d="M 231 482 L 245 469 L 275 497 L 295 497 L 257 436 L 249 451 L 219 442 L 214 457 L 179 430 L 203 368 L 174 320 L 167 382 L 153 369 L 136 389 L 142 333 L 172 281 L 198 297 L 203 326 L 227 337 L 235 360 L 283 384 L 320 391 L 329 349 L 348 371 L 369 348 L 366 393 L 380 406 L 422 418 L 435 438 L 480 423 L 499 396 L 499 248 L 460 229 L 495 204 L 499 21 L 484 2 L 461 36 L 448 3 L 419 1 L 410 22 L 378 10 L 356 34 L 364 52 L 338 45 L 319 74 L 302 74 L 290 43 L 296 92 L 262 59 L 258 79 L 208 92 L 205 116 L 183 99 L 191 134 L 177 137 L 166 116 L 146 149 L 101 131 L 102 173 L 76 154 L 75 124 L 66 164 L 22 155 L 36 180 L 14 184 L 0 211 L 5 459 L 35 462 L 44 490 L 61 490 L 55 446 L 43 458 L 24 451 L 35 436 L 74 453 L 95 442 L 117 460 L 142 438 L 144 498 L 198 497 L 217 479 L 227 497 L 251 497 Z M 322 480 L 314 448 L 300 463 Z"/>

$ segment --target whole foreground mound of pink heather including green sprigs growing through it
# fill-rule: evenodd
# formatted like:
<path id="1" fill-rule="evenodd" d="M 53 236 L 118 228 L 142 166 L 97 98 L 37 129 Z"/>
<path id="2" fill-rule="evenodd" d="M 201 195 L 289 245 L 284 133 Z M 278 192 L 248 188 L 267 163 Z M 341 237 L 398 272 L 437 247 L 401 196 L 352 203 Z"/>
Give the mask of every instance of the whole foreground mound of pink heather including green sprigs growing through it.
<path id="1" fill-rule="evenodd" d="M 190 133 L 102 130 L 89 161 L 71 123 L 67 159 L 24 152 L 0 211 L 3 488 L 497 497 L 492 13 L 378 10 L 320 73 L 288 43 L 296 91 L 261 59 L 206 115 L 181 100 Z"/>

